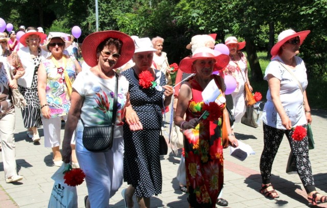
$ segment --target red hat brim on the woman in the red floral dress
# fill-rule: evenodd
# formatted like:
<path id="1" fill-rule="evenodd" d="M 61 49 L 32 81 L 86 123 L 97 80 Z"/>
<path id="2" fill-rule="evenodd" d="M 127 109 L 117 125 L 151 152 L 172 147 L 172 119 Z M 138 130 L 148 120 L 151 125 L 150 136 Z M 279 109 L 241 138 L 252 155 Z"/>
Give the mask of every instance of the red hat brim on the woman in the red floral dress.
<path id="1" fill-rule="evenodd" d="M 197 59 L 203 59 L 203 58 L 214 58 L 214 59 L 216 59 L 217 62 L 215 64 L 215 66 L 214 66 L 214 70 L 213 71 L 222 70 L 229 63 L 229 56 L 228 55 L 221 54 L 219 56 L 214 56 L 214 55 L 209 54 L 209 53 L 200 53 L 200 54 L 196 54 L 192 58 L 185 57 L 184 59 L 182 59 L 180 61 L 178 67 L 184 73 L 194 73 L 194 71 L 192 70 L 192 68 L 193 68 L 193 62 L 196 61 Z"/>

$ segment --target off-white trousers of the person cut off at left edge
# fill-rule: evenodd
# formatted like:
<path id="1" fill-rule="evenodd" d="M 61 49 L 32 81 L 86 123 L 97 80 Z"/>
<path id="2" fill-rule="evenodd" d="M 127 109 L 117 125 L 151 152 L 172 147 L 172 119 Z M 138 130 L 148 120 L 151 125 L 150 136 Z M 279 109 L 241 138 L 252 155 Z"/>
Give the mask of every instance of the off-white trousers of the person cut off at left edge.
<path id="1" fill-rule="evenodd" d="M 0 116 L 0 141 L 2 144 L 2 160 L 5 170 L 5 178 L 17 175 L 15 131 L 15 109 L 6 115 Z"/>

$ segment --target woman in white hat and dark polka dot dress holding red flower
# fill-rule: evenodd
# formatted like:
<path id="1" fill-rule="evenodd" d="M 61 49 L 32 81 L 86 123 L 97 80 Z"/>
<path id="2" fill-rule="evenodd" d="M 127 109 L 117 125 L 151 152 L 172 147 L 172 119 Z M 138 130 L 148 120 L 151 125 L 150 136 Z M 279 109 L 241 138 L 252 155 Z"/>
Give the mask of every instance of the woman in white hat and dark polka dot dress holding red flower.
<path id="1" fill-rule="evenodd" d="M 150 197 L 161 193 L 162 175 L 159 157 L 159 134 L 162 113 L 171 102 L 173 88 L 166 85 L 165 74 L 151 68 L 156 49 L 150 38 L 135 39 L 135 66 L 122 73 L 129 81 L 131 106 L 126 108 L 124 124 L 124 180 L 129 187 L 122 195 L 125 206 L 133 206 L 133 195 L 139 207 L 150 207 Z M 156 83 L 153 86 L 151 81 Z M 162 90 L 162 88 L 164 90 Z M 143 128 L 133 131 L 135 127 Z"/>

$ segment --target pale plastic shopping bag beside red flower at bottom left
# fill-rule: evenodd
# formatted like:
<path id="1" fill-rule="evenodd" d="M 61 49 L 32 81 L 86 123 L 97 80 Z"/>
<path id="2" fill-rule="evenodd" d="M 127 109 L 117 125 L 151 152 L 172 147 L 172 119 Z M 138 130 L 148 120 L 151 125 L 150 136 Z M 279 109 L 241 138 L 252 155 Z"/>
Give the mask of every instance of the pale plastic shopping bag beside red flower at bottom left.
<path id="1" fill-rule="evenodd" d="M 54 179 L 48 208 L 77 208 L 76 187 L 64 183 L 63 172 L 68 164 L 62 163 L 61 167 L 51 177 Z"/>

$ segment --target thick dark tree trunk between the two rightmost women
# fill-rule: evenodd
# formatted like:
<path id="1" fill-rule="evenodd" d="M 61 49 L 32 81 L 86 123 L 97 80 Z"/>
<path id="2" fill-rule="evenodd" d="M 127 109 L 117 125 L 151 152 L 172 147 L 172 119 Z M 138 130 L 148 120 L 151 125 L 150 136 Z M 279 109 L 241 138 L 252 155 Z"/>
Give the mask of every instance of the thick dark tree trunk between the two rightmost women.
<path id="1" fill-rule="evenodd" d="M 258 56 L 256 56 L 254 41 L 249 36 L 245 37 L 245 41 L 246 41 L 247 59 L 249 61 L 250 68 L 251 68 L 251 81 L 254 82 L 262 81 L 264 77 L 262 75 Z"/>

